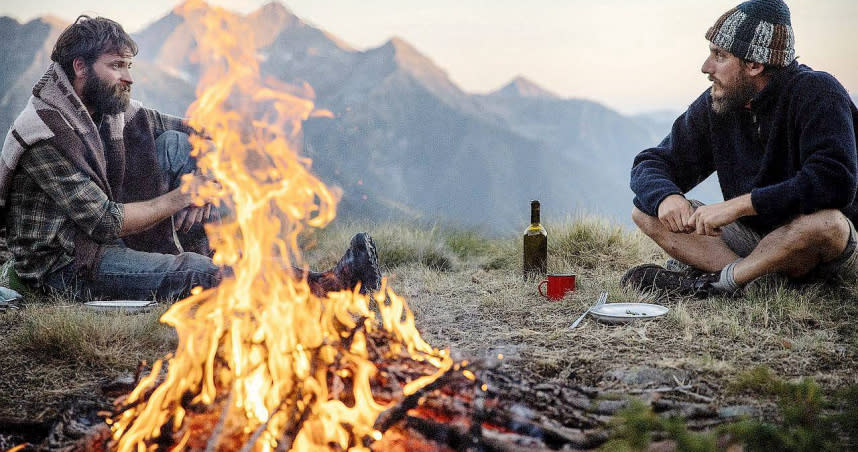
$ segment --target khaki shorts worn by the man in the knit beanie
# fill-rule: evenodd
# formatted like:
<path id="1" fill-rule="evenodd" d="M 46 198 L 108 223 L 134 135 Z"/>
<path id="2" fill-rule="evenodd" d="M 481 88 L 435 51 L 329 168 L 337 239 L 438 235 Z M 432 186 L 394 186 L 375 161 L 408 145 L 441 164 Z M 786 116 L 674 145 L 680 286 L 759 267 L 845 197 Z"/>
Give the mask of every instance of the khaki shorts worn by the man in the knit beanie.
<path id="1" fill-rule="evenodd" d="M 694 208 L 704 205 L 694 199 L 690 202 Z M 858 233 L 855 232 L 855 225 L 849 218 L 844 216 L 843 219 L 849 224 L 849 240 L 846 242 L 846 249 L 836 259 L 817 265 L 798 281 L 858 280 Z M 760 233 L 738 221 L 721 228 L 721 240 L 739 257 L 747 257 L 751 254 L 762 239 L 763 236 Z"/>

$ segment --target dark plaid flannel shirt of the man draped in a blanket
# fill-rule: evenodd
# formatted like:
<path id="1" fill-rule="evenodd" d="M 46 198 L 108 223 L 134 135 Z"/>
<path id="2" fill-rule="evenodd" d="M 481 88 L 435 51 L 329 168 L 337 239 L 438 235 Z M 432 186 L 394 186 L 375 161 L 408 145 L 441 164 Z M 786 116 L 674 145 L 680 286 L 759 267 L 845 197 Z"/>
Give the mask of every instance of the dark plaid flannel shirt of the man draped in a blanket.
<path id="1" fill-rule="evenodd" d="M 190 132 L 181 118 L 147 108 L 143 112 L 153 137 L 167 130 Z M 74 261 L 75 234 L 87 234 L 97 243 L 115 242 L 124 216 L 124 205 L 108 199 L 59 150 L 37 143 L 21 156 L 9 193 L 6 231 L 15 271 L 40 286 L 44 275 Z"/>

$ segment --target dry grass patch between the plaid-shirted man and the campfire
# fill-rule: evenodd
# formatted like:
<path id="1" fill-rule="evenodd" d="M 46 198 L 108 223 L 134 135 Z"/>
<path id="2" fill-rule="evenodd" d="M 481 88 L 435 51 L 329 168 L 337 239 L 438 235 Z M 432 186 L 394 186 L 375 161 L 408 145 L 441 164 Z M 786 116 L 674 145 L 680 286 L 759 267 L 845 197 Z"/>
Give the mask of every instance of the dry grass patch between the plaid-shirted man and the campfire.
<path id="1" fill-rule="evenodd" d="M 0 313 L 0 418 L 50 421 L 63 407 L 106 402 L 101 385 L 176 347 L 158 323 L 166 307 L 137 314 L 42 300 Z"/>

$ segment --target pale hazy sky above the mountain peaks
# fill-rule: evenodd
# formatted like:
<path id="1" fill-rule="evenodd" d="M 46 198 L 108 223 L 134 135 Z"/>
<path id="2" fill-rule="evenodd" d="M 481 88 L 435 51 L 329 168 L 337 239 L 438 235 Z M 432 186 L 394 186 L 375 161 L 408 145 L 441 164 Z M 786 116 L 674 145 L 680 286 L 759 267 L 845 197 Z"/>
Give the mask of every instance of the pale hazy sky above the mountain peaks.
<path id="1" fill-rule="evenodd" d="M 176 0 L 0 0 L 19 20 L 80 13 L 138 31 Z M 212 3 L 241 12 L 266 1 Z M 357 49 L 400 36 L 469 92 L 523 75 L 563 97 L 624 113 L 684 109 L 708 82 L 706 30 L 736 0 L 288 0 L 296 15 Z M 791 0 L 799 61 L 858 92 L 858 0 Z"/>

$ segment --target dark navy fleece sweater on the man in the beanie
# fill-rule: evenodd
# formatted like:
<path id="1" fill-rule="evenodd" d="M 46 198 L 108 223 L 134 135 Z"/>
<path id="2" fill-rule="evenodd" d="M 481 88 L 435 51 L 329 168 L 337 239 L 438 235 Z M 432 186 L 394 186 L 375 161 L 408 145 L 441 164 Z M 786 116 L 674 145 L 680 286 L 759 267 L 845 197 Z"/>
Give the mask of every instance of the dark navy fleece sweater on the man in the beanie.
<path id="1" fill-rule="evenodd" d="M 858 110 L 834 77 L 793 62 L 750 109 L 719 116 L 711 103 L 707 90 L 635 158 L 637 208 L 656 216 L 664 198 L 716 171 L 724 199 L 751 194 L 757 215 L 741 221 L 761 233 L 828 208 L 858 223 Z"/>

